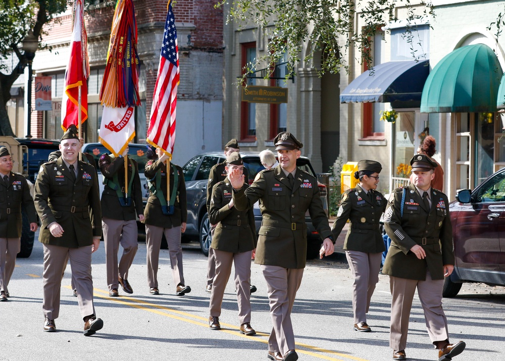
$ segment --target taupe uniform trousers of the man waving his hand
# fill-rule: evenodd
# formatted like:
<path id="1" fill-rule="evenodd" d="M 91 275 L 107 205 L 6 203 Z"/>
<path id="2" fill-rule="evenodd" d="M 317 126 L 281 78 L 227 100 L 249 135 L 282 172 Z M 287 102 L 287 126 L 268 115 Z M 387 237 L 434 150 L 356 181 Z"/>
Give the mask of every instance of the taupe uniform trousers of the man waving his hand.
<path id="1" fill-rule="evenodd" d="M 262 265 L 261 270 L 267 282 L 270 317 L 273 324 L 268 339 L 268 350 L 284 355 L 287 351 L 294 350 L 291 309 L 304 276 L 304 268 Z"/>

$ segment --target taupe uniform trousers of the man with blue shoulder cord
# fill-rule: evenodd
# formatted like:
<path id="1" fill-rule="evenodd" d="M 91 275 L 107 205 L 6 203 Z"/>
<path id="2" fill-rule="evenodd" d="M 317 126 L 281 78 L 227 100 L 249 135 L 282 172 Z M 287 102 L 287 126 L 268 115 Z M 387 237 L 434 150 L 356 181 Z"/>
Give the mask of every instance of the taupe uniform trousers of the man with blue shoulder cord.
<path id="1" fill-rule="evenodd" d="M 425 281 L 389 277 L 392 296 L 389 347 L 405 350 L 407 346 L 409 317 L 416 288 L 431 342 L 435 344 L 436 341 L 449 339 L 447 318 L 442 309 L 443 282 L 444 280 L 432 280 L 429 272 L 426 273 Z"/>

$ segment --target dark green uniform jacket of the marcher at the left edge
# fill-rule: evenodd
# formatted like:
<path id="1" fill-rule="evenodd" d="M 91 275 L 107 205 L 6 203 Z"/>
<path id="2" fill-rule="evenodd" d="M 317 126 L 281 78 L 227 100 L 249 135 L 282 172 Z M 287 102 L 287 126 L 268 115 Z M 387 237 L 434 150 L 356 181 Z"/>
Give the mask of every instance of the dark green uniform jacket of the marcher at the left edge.
<path id="1" fill-rule="evenodd" d="M 0 180 L 0 237 L 21 237 L 21 205 L 25 207 L 28 221 L 35 223 L 37 213 L 30 194 L 30 187 L 22 175 L 9 173 L 9 184 Z"/>

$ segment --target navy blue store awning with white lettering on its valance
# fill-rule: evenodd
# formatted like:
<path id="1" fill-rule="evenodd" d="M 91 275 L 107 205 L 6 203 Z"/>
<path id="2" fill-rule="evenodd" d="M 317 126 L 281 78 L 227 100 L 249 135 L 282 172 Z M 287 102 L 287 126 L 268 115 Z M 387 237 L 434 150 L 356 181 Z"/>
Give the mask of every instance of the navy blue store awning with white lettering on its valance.
<path id="1" fill-rule="evenodd" d="M 340 94 L 340 102 L 420 101 L 429 72 L 429 60 L 379 64 L 352 80 Z"/>

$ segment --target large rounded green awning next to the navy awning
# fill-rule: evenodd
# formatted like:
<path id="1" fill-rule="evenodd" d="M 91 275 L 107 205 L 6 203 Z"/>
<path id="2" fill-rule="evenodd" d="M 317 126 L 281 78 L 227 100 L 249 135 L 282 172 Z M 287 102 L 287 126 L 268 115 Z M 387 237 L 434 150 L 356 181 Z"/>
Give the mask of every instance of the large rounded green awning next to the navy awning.
<path id="1" fill-rule="evenodd" d="M 502 75 L 498 58 L 487 45 L 459 48 L 430 72 L 423 88 L 421 112 L 495 112 Z"/>

